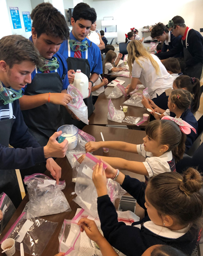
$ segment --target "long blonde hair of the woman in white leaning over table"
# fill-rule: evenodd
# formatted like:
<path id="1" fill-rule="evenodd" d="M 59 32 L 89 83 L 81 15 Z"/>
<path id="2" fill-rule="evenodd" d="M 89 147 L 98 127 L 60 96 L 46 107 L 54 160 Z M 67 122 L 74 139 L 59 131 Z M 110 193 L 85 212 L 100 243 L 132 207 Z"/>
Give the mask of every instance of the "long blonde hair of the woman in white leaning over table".
<path id="1" fill-rule="evenodd" d="M 160 68 L 156 60 L 151 56 L 151 54 L 145 49 L 143 44 L 139 40 L 133 40 L 129 42 L 127 45 L 127 52 L 128 52 L 128 66 L 129 66 L 129 71 L 130 71 L 130 77 L 132 75 L 132 64 L 134 63 L 134 60 L 138 63 L 138 65 L 143 68 L 139 61 L 139 57 L 145 57 L 149 59 L 152 63 L 152 66 L 156 70 L 156 74 L 159 75 Z"/>

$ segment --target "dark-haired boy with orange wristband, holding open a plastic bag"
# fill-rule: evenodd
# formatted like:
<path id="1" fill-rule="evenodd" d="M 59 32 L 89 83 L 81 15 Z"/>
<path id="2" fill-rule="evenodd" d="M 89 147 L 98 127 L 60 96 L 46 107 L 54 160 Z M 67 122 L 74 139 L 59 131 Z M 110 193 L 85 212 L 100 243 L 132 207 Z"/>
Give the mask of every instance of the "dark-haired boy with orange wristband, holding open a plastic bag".
<path id="1" fill-rule="evenodd" d="M 32 72 L 31 83 L 23 88 L 24 95 L 19 101 L 29 132 L 45 146 L 64 124 L 60 106 L 67 109 L 71 101 L 67 94 L 67 63 L 57 52 L 63 40 L 69 38 L 69 27 L 56 8 L 43 7 L 33 16 L 31 33 L 29 40 L 39 50 L 44 66 Z M 70 115 L 67 111 L 66 114 Z"/>

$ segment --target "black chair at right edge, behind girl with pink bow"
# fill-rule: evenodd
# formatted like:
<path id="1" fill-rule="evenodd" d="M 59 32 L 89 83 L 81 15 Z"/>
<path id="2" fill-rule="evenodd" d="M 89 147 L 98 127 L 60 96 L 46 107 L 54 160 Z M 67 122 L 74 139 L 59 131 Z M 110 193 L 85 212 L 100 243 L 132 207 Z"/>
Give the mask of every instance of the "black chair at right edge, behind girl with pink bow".
<path id="1" fill-rule="evenodd" d="M 183 155 L 183 159 L 181 159 L 176 164 L 176 171 L 178 173 L 182 173 L 187 170 L 188 167 L 197 168 L 198 171 L 203 172 L 203 157 L 202 157 L 203 143 L 197 148 L 194 152 L 193 156 L 189 156 L 188 154 Z"/>

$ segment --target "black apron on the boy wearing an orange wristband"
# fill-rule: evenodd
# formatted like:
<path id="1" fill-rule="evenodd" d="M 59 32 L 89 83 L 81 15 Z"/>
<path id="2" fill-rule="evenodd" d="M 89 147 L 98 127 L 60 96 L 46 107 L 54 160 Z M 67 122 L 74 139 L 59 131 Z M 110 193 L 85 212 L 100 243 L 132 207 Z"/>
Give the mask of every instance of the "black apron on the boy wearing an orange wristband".
<path id="1" fill-rule="evenodd" d="M 62 80 L 57 72 L 38 74 L 26 87 L 26 95 L 36 95 L 41 93 L 60 93 L 62 90 Z M 51 96 L 50 96 L 51 98 Z M 37 108 L 22 111 L 24 121 L 41 146 L 46 146 L 49 138 L 63 125 L 60 105 L 46 103 Z M 66 111 L 66 114 L 67 111 Z"/>

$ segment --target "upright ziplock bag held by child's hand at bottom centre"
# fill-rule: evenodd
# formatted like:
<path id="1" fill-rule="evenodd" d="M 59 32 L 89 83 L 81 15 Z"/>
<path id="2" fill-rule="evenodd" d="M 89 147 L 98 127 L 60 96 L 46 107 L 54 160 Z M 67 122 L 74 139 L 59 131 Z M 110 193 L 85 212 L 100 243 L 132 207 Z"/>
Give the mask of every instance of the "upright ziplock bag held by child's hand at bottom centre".
<path id="1" fill-rule="evenodd" d="M 59 252 L 65 255 L 77 256 L 80 251 L 80 226 L 77 225 L 79 216 L 84 212 L 83 209 L 72 219 L 64 219 L 59 240 Z"/>

